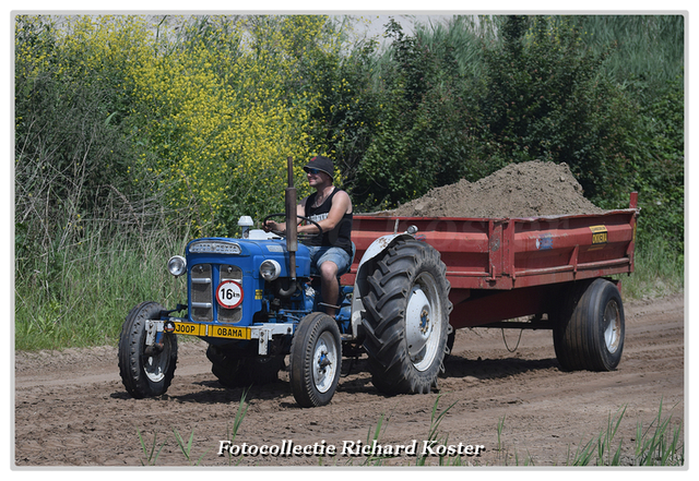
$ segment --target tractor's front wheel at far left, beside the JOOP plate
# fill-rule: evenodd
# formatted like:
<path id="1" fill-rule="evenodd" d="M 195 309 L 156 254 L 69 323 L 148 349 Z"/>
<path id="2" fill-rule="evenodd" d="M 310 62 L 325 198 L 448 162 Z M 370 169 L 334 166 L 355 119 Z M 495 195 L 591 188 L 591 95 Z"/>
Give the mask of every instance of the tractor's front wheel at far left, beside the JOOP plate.
<path id="1" fill-rule="evenodd" d="M 123 386 L 135 398 L 165 394 L 177 365 L 177 336 L 163 336 L 163 349 L 145 353 L 146 322 L 159 320 L 163 306 L 142 302 L 127 315 L 119 337 L 119 374 Z"/>

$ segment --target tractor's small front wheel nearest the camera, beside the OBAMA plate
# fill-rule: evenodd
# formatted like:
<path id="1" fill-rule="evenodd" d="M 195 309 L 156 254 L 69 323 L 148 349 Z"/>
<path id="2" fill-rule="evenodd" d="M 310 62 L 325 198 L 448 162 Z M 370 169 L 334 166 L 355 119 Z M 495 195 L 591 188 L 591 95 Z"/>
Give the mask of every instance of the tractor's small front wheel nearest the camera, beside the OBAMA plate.
<path id="1" fill-rule="evenodd" d="M 342 364 L 337 323 L 322 312 L 304 317 L 292 339 L 289 364 L 292 392 L 300 407 L 330 402 L 337 388 Z"/>

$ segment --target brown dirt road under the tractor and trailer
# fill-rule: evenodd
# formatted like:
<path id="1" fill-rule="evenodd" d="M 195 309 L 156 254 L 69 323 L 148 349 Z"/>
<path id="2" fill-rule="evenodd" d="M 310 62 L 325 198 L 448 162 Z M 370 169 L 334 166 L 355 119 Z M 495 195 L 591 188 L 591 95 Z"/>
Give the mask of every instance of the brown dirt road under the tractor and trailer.
<path id="1" fill-rule="evenodd" d="M 369 432 L 372 437 L 379 422 L 379 445 L 410 447 L 415 441 L 422 454 L 433 408 L 440 413 L 453 404 L 438 432 L 448 436 L 445 445 L 462 449 L 463 464 L 566 464 L 569 450 L 599 435 L 621 408 L 626 411 L 614 444 L 623 443 L 630 462 L 637 425 L 649 426 L 661 401 L 663 418 L 672 416 L 673 426 L 684 425 L 684 297 L 627 303 L 626 326 L 624 357 L 611 373 L 560 371 L 549 332 L 523 332 L 520 338 L 520 332 L 498 329 L 460 330 L 440 393 L 430 395 L 382 396 L 359 359 L 329 406 L 303 410 L 283 373 L 281 382 L 248 393 L 247 413 L 232 444 L 235 450 L 247 443 L 258 454 L 235 461 L 359 466 L 367 458 L 355 456 L 357 441 L 366 443 Z M 16 466 L 141 466 L 149 459 L 139 432 L 149 448 L 156 436 L 156 452 L 165 443 L 157 466 L 227 466 L 229 458 L 217 452 L 221 441 L 232 438 L 241 389 L 221 387 L 204 352 L 199 340 L 180 342 L 167 395 L 145 400 L 127 395 L 114 347 L 16 353 Z M 185 444 L 193 433 L 189 460 L 175 432 Z M 294 446 L 307 453 L 324 448 L 325 456 L 293 454 Z M 466 446 L 472 446 L 471 456 Z M 329 456 L 333 448 L 335 456 Z M 408 455 L 383 464 L 407 466 L 417 459 Z M 438 461 L 438 456 L 427 458 L 427 464 Z"/>

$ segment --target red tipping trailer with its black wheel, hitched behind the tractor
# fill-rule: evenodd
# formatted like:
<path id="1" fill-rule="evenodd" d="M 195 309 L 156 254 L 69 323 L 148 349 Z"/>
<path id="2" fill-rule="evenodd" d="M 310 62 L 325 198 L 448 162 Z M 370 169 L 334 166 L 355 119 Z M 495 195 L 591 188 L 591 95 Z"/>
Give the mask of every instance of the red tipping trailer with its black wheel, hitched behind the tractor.
<path id="1" fill-rule="evenodd" d="M 355 281 L 381 236 L 417 228 L 447 267 L 452 328 L 549 328 L 565 369 L 611 370 L 624 344 L 620 281 L 633 272 L 638 195 L 628 209 L 531 218 L 356 215 Z M 531 320 L 523 322 L 522 317 Z"/>

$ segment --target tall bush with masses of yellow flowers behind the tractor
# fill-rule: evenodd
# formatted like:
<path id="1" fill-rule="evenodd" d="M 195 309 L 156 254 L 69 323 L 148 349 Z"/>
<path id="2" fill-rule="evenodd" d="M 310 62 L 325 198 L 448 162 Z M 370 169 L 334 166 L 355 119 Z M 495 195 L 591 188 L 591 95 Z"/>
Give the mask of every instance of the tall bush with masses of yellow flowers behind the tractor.
<path id="1" fill-rule="evenodd" d="M 20 24 L 35 36 L 50 24 L 52 37 L 27 41 L 17 32 L 19 76 L 49 72 L 66 96 L 71 79 L 104 85 L 105 122 L 128 125 L 133 145 L 126 177 L 158 194 L 194 233 L 233 235 L 240 215 L 282 211 L 289 156 L 299 195 L 307 193 L 301 166 L 321 145 L 311 125 L 321 94 L 309 72 L 341 44 L 325 16 L 26 16 Z"/>

